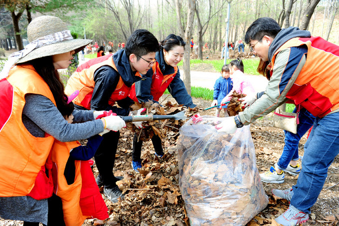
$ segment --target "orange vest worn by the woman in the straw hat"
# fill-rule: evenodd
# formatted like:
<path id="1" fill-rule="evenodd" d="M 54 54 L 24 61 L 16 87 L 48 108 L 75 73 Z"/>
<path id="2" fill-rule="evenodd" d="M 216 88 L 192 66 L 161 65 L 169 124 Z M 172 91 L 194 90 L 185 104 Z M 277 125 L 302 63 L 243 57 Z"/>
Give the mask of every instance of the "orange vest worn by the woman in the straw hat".
<path id="1" fill-rule="evenodd" d="M 40 94 L 55 104 L 32 65 L 14 66 L 0 80 L 0 197 L 26 196 L 45 165 L 54 138 L 34 137 L 22 123 L 25 94 Z M 46 175 L 41 175 L 46 177 Z M 48 182 L 48 178 L 45 178 Z M 51 195 L 51 194 L 50 194 Z M 47 197 L 46 197 L 47 198 Z"/>

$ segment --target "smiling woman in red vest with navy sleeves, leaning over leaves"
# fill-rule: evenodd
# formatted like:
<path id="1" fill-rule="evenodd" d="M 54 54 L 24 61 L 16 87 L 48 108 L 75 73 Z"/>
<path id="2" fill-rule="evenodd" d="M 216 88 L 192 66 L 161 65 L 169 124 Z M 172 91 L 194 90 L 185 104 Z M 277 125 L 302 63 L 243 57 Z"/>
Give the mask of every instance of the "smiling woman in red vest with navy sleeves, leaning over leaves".
<path id="1" fill-rule="evenodd" d="M 178 35 L 170 34 L 160 43 L 160 50 L 155 54 L 156 63 L 152 69 L 142 75 L 141 81 L 134 84 L 129 97 L 134 101 L 157 103 L 160 97 L 168 89 L 178 104 L 194 108 L 196 105 L 192 97 L 187 93 L 184 82 L 180 78 L 177 64 L 182 60 L 185 52 L 186 42 Z M 140 124 L 139 129 L 142 128 Z M 161 138 L 156 134 L 151 138 L 155 155 L 161 158 L 164 155 Z M 141 165 L 142 140 L 138 140 L 137 133 L 133 138 L 132 168 L 138 172 Z"/>

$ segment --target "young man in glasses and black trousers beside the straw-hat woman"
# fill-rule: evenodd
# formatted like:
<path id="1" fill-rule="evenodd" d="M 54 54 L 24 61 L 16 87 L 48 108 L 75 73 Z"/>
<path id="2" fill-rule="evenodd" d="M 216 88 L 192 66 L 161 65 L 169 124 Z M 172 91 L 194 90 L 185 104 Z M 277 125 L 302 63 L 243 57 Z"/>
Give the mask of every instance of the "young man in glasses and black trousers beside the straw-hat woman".
<path id="1" fill-rule="evenodd" d="M 159 50 L 158 40 L 145 29 L 135 30 L 128 38 L 125 49 L 118 50 L 113 56 L 103 61 L 92 61 L 81 71 L 76 71 L 68 79 L 65 93 L 79 90 L 73 100 L 76 109 L 102 111 L 112 110 L 121 116 L 129 114 L 129 106 L 134 102 L 128 93 L 140 74 L 146 74 L 155 61 L 155 52 Z M 101 57 L 100 57 L 101 58 Z M 97 58 L 99 59 L 99 58 Z M 113 106 L 117 102 L 119 108 Z M 113 203 L 124 195 L 116 185 L 119 178 L 113 175 L 115 153 L 120 137 L 119 131 L 110 131 L 103 136 L 95 156 L 99 171 L 96 181 L 104 186 L 105 196 Z"/>

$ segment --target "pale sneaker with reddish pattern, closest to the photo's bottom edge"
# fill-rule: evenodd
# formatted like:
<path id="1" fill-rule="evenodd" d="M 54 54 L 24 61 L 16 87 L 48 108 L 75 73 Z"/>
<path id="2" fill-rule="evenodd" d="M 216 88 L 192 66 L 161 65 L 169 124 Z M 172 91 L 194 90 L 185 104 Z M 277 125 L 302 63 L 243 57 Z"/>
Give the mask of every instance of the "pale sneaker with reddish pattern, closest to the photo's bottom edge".
<path id="1" fill-rule="evenodd" d="M 290 205 L 284 214 L 280 215 L 275 221 L 283 226 L 297 226 L 309 220 L 309 215 Z"/>

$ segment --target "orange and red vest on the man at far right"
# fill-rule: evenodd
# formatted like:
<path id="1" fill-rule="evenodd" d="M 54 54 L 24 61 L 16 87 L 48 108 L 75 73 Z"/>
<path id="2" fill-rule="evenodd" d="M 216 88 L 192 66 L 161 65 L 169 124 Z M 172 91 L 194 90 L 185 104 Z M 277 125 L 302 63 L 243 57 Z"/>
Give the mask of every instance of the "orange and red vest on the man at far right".
<path id="1" fill-rule="evenodd" d="M 324 117 L 339 108 L 339 46 L 321 37 L 292 38 L 275 52 L 272 68 L 279 51 L 300 45 L 308 47 L 306 62 L 286 97 L 314 116 Z"/>

